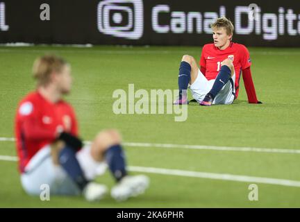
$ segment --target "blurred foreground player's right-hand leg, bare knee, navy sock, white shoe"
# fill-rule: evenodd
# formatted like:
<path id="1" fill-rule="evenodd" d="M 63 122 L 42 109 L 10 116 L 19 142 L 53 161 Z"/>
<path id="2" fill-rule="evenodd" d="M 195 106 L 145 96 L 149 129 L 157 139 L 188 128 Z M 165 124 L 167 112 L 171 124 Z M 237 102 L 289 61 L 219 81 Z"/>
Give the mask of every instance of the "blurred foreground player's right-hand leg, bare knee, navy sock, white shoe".
<path id="1" fill-rule="evenodd" d="M 121 137 L 116 130 L 104 130 L 97 135 L 91 145 L 91 154 L 95 161 L 106 160 L 110 172 L 117 184 L 111 190 L 116 200 L 126 200 L 142 194 L 149 185 L 147 176 L 128 176 Z"/>

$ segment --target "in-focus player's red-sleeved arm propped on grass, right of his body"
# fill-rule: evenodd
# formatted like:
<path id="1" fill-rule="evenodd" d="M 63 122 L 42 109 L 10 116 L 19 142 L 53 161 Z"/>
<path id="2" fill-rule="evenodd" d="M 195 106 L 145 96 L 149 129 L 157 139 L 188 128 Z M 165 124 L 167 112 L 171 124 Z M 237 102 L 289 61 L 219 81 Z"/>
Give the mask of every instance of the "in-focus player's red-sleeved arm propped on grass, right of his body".
<path id="1" fill-rule="evenodd" d="M 244 87 L 247 92 L 248 102 L 249 103 L 261 103 L 258 101 L 256 96 L 256 89 L 252 80 L 251 69 L 247 67 L 242 70 L 242 78 L 244 80 Z"/>

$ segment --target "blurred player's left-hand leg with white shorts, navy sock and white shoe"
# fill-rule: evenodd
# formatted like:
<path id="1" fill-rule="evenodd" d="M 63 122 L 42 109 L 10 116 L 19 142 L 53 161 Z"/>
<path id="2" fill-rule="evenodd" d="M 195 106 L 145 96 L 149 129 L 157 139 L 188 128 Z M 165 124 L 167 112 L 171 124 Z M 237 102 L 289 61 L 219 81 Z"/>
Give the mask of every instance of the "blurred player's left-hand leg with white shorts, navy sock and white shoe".
<path id="1" fill-rule="evenodd" d="M 40 186 L 48 185 L 51 195 L 77 196 L 83 194 L 87 200 L 102 198 L 107 193 L 106 187 L 94 182 L 83 182 L 85 178 L 80 167 L 78 169 L 78 165 L 76 165 L 73 151 L 69 153 L 69 150 L 65 148 L 62 148 L 61 151 L 63 151 L 62 154 L 55 146 L 47 145 L 33 156 L 21 176 L 22 186 L 26 193 L 40 195 Z M 59 156 L 62 157 L 62 160 L 58 159 Z M 71 170 L 72 167 L 74 169 Z M 77 182 L 80 181 L 80 185 L 74 181 L 76 176 L 83 178 L 75 179 Z"/>

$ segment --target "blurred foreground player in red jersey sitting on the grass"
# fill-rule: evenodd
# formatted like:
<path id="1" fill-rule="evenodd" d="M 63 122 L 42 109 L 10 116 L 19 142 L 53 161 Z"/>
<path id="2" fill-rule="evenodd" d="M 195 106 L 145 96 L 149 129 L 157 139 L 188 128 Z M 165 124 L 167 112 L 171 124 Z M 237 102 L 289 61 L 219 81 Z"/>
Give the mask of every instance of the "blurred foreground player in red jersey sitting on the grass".
<path id="1" fill-rule="evenodd" d="M 49 185 L 54 195 L 80 195 L 100 200 L 105 185 L 93 182 L 108 168 L 116 180 L 111 195 L 126 200 L 142 194 L 149 185 L 147 176 L 128 176 L 121 137 L 116 130 L 103 130 L 90 146 L 78 138 L 76 116 L 63 101 L 72 85 L 70 65 L 56 56 L 35 60 L 33 76 L 37 90 L 19 103 L 15 137 L 22 187 L 27 194 L 40 195 L 40 186 Z"/>

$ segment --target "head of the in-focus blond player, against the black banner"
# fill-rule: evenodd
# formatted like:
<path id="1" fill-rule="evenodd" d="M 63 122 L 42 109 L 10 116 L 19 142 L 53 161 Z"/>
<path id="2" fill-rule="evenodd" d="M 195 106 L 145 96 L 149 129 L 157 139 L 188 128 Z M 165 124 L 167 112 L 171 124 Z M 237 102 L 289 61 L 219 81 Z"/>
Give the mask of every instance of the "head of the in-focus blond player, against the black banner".
<path id="1" fill-rule="evenodd" d="M 213 40 L 216 47 L 226 49 L 233 37 L 233 24 L 226 17 L 218 18 L 212 25 Z"/>

